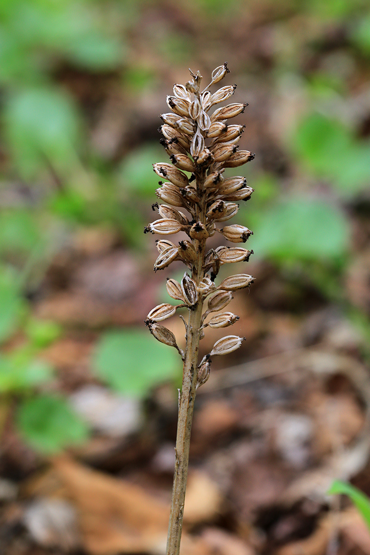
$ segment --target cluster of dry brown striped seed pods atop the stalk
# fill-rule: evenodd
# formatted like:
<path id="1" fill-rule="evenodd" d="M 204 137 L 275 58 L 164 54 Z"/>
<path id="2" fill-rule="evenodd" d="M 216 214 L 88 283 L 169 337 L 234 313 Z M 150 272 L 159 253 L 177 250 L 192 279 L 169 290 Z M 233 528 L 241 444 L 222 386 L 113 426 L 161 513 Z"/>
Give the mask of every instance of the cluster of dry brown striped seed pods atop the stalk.
<path id="1" fill-rule="evenodd" d="M 156 306 L 149 312 L 146 324 L 156 339 L 175 347 L 183 360 L 187 357 L 188 345 L 194 348 L 194 342 L 189 339 L 191 335 L 192 338 L 197 336 L 199 341 L 205 327 L 227 327 L 238 320 L 232 312 L 221 311 L 231 301 L 233 291 L 249 287 L 253 282 L 248 274 L 230 276 L 218 286 L 214 282 L 223 264 L 248 261 L 253 254 L 251 250 L 234 246 L 245 243 L 253 232 L 243 225 L 224 224 L 237 214 L 238 202 L 248 200 L 253 193 L 244 177 L 227 178 L 224 170 L 236 168 L 254 158 L 248 150 L 238 150 L 244 125 L 230 123 L 232 118 L 244 112 L 247 104 L 231 103 L 218 107 L 232 97 L 236 85 L 219 88 L 214 93 L 210 90 L 227 73 L 226 63 L 214 69 L 211 82 L 203 90 L 199 72 L 191 72 L 192 79 L 186 85 L 174 85 L 173 95 L 167 97 L 171 112 L 161 115 L 163 125 L 160 128 L 163 134 L 161 143 L 171 164 L 153 164 L 155 173 L 161 178 L 156 194 L 163 204 L 153 204 L 159 218 L 148 224 L 144 233 L 161 236 L 157 240 L 159 255 L 154 270 L 162 270 L 174 260 L 181 260 L 188 271 L 181 282 L 167 280 L 169 296 L 182 304 Z M 188 239 L 177 244 L 168 240 L 168 235 L 179 231 Z M 207 250 L 206 241 L 215 233 L 223 235 L 233 245 Z M 207 297 L 207 309 L 203 312 Z M 166 328 L 157 323 L 173 316 L 178 307 L 189 310 L 189 322 L 185 324 L 185 352 L 178 348 L 173 334 L 169 330 L 163 331 Z M 218 314 L 206 321 L 213 312 Z M 214 344 L 198 365 L 198 385 L 209 376 L 210 357 L 238 349 L 242 339 L 228 335 Z"/>

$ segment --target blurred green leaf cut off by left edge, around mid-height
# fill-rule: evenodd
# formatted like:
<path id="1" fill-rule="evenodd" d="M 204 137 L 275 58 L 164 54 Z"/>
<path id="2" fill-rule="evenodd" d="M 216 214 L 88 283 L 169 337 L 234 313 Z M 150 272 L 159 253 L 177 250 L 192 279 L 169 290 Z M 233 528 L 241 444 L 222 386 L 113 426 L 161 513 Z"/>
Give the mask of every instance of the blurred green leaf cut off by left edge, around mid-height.
<path id="1" fill-rule="evenodd" d="M 19 279 L 10 268 L 0 266 L 0 343 L 12 335 L 26 310 Z"/>

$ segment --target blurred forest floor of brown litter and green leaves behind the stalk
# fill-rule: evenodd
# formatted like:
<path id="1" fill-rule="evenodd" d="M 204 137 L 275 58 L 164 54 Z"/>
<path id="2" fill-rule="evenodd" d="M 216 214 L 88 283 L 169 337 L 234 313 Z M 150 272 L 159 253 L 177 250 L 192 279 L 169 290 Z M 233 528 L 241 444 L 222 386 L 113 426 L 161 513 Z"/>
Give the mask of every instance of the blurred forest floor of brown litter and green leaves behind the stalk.
<path id="1" fill-rule="evenodd" d="M 199 390 L 183 553 L 369 555 L 326 496 L 370 494 L 368 2 L 3 0 L 0 21 L 1 553 L 163 553 L 181 361 L 143 320 L 184 269 L 154 275 L 143 228 L 166 95 L 228 62 L 256 159 L 228 170 L 255 254 L 226 271 L 256 282 Z"/>

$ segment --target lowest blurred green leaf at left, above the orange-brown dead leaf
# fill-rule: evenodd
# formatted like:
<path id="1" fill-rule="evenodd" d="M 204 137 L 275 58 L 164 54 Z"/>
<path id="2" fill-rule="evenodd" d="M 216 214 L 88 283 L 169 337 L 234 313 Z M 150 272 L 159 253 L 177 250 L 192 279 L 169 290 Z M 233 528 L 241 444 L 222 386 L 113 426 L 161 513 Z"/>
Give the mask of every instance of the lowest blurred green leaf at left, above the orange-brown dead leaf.
<path id="1" fill-rule="evenodd" d="M 68 402 L 54 395 L 38 395 L 18 407 L 17 425 L 24 439 L 44 454 L 86 440 L 88 427 Z"/>

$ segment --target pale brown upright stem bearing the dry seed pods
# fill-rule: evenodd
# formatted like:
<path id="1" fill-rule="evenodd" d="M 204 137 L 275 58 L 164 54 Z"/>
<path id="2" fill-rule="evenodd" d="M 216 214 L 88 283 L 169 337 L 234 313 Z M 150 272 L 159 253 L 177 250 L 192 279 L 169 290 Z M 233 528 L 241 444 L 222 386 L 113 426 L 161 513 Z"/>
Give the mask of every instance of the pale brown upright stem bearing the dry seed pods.
<path id="1" fill-rule="evenodd" d="M 205 173 L 197 175 L 197 190 L 202 199 Z M 197 209 L 197 218 L 202 223 L 206 221 L 206 201 Z M 194 265 L 192 279 L 199 284 L 204 277 L 203 264 L 206 251 L 206 241 L 194 241 L 198 259 Z M 201 336 L 203 300 L 199 299 L 193 310 L 189 311 L 189 321 L 186 334 L 186 349 L 183 367 L 183 381 L 179 398 L 176 462 L 173 477 L 171 512 L 169 515 L 166 555 L 179 555 L 183 511 L 185 503 L 186 483 L 189 465 L 189 447 L 193 420 L 194 401 L 196 397 L 198 379 L 198 351 Z"/>

